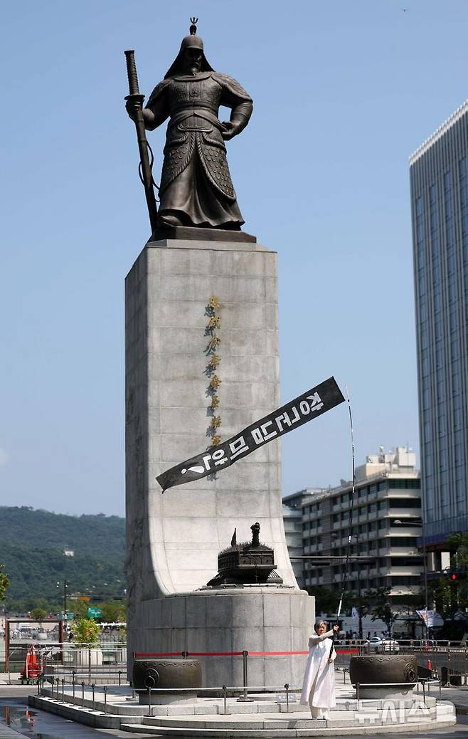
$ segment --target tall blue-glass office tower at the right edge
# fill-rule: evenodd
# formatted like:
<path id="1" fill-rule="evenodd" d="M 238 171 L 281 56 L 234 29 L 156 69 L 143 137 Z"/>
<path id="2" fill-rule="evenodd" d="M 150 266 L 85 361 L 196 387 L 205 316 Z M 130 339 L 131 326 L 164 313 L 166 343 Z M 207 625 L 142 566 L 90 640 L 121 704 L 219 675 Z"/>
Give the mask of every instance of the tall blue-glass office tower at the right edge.
<path id="1" fill-rule="evenodd" d="M 421 484 L 429 548 L 468 531 L 468 101 L 410 157 Z"/>

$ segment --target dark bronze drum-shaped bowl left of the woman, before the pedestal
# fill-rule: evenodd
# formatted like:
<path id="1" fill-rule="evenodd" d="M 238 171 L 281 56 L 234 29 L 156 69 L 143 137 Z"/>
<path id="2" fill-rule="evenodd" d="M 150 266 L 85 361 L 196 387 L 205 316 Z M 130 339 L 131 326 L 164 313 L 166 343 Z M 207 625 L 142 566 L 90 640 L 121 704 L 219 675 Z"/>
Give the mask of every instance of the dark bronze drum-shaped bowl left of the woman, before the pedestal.
<path id="1" fill-rule="evenodd" d="M 202 664 L 198 659 L 136 659 L 133 669 L 135 690 L 148 688 L 202 687 Z"/>

